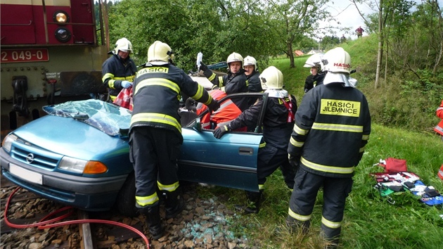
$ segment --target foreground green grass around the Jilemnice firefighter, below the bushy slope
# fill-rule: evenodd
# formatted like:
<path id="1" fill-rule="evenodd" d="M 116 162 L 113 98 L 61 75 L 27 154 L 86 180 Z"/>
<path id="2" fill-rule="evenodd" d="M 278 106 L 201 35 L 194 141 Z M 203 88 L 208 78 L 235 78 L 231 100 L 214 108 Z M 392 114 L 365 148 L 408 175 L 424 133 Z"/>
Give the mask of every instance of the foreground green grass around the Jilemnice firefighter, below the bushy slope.
<path id="1" fill-rule="evenodd" d="M 394 204 L 387 202 L 373 189 L 376 182 L 371 172 L 383 172 L 377 165 L 388 157 L 406 159 L 408 170 L 421 177 L 423 183 L 443 191 L 443 181 L 437 177 L 443 163 L 442 141 L 438 136 L 373 125 L 371 139 L 354 176 L 354 186 L 347 198 L 342 223 L 342 248 L 441 248 L 443 242 L 442 206 L 420 203 L 408 192 L 391 194 Z M 226 205 L 245 203 L 243 191 L 214 187 L 200 189 L 202 195 L 230 196 Z M 232 217 L 231 231 L 235 236 L 259 240 L 259 248 L 323 248 L 319 236 L 322 193 L 317 196 L 312 227 L 308 234 L 274 231 L 284 227 L 288 213 L 290 191 L 277 170 L 265 184 L 264 201 L 257 215 Z"/>

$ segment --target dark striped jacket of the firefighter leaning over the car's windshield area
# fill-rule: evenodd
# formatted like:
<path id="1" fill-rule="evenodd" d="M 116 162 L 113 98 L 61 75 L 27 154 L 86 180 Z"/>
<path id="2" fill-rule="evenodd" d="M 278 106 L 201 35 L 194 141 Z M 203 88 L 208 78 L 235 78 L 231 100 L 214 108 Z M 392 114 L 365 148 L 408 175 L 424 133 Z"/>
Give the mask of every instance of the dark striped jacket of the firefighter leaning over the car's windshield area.
<path id="1" fill-rule="evenodd" d="M 146 64 L 134 82 L 131 128 L 147 125 L 172 129 L 181 136 L 180 92 L 208 105 L 212 97 L 186 73 L 172 64 Z"/>

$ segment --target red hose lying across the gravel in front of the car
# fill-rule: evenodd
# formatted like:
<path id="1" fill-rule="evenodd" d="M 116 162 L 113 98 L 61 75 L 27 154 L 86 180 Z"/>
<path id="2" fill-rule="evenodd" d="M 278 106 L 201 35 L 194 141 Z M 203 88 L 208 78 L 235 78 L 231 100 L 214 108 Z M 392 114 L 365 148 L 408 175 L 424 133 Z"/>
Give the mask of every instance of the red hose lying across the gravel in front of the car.
<path id="1" fill-rule="evenodd" d="M 11 226 L 12 228 L 24 229 L 24 228 L 30 228 L 30 227 L 37 226 L 38 229 L 47 229 L 47 228 L 52 228 L 52 227 L 56 227 L 56 226 L 65 226 L 67 224 L 83 224 L 83 223 L 113 224 L 115 226 L 122 226 L 122 227 L 124 227 L 126 229 L 134 231 L 136 234 L 139 234 L 139 236 L 141 236 L 141 238 L 143 238 L 143 241 L 145 241 L 146 246 L 148 247 L 148 249 L 150 248 L 149 247 L 149 240 L 148 240 L 148 238 L 146 238 L 146 236 L 141 231 L 139 231 L 138 229 L 136 229 L 136 228 L 134 228 L 132 226 L 129 226 L 127 224 L 123 224 L 123 223 L 120 223 L 120 222 L 113 222 L 113 221 L 109 221 L 109 220 L 105 220 L 105 219 L 76 219 L 76 220 L 71 220 L 71 221 L 67 221 L 67 222 L 58 222 L 58 223 L 55 223 L 55 224 L 49 224 L 49 223 L 52 223 L 52 222 L 59 221 L 61 219 L 65 219 L 66 217 L 69 217 L 70 215 L 72 215 L 72 213 L 74 212 L 72 210 L 72 207 L 60 208 L 59 210 L 51 212 L 49 215 L 46 215 L 43 219 L 40 220 L 40 222 L 37 222 L 37 223 L 33 223 L 33 224 L 13 224 L 13 223 L 9 222 L 8 217 L 7 217 L 7 213 L 8 213 L 9 203 L 10 203 L 10 201 L 12 199 L 12 196 L 14 195 L 15 192 L 18 191 L 18 189 L 20 189 L 20 187 L 17 187 L 11 193 L 11 196 L 8 197 L 8 201 L 6 202 L 6 205 L 5 205 L 5 212 L 4 212 L 5 222 L 6 222 L 6 224 L 8 226 Z M 49 218 L 49 217 L 51 217 L 53 215 L 56 215 L 59 212 L 63 212 L 65 210 L 70 210 L 70 212 L 68 212 L 65 215 L 61 215 L 60 217 L 56 217 L 56 218 L 44 221 L 45 219 L 47 219 L 47 218 Z"/>

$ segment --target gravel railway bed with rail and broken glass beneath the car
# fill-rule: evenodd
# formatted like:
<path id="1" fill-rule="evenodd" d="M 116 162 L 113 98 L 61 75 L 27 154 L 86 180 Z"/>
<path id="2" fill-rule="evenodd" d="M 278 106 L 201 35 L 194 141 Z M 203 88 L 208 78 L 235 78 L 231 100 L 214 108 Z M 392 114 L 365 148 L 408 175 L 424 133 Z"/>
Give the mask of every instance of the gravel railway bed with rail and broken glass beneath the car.
<path id="1" fill-rule="evenodd" d="M 1 237 L 0 249 L 145 249 L 145 248 L 217 248 L 217 249 L 258 249 L 260 241 L 250 240 L 245 234 L 235 234 L 238 214 L 224 205 L 229 194 L 211 196 L 208 186 L 198 184 L 181 186 L 186 203 L 184 210 L 174 219 L 165 219 L 160 209 L 165 236 L 157 241 L 146 238 L 148 229 L 144 217 L 124 217 L 117 212 L 83 212 L 81 210 L 65 210 L 60 215 L 72 211 L 63 222 L 76 219 L 92 219 L 124 224 L 90 222 L 82 225 L 63 224 L 53 228 L 39 229 L 37 226 L 17 229 L 6 224 L 4 212 L 6 202 L 17 186 L 1 177 Z M 210 187 L 210 186 L 209 186 Z M 199 195 L 203 188 L 202 197 Z M 8 204 L 7 217 L 12 224 L 35 224 L 47 215 L 66 208 L 51 200 L 41 198 L 25 189 L 13 194 Z M 58 215 L 54 215 L 57 217 Z M 46 219 L 53 219 L 48 217 Z M 45 220 L 46 220 L 45 219 Z M 62 221 L 57 221 L 62 222 Z M 54 222 L 56 223 L 56 222 Z M 141 235 L 127 229 L 136 229 Z M 148 241 L 145 241 L 145 237 Z"/>

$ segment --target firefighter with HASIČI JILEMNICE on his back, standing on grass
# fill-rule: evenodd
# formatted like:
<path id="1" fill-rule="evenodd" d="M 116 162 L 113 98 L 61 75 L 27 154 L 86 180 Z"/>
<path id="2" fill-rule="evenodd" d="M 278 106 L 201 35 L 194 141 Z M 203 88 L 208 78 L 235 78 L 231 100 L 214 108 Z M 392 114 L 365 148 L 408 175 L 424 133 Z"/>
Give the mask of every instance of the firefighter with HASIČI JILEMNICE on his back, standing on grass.
<path id="1" fill-rule="evenodd" d="M 371 116 L 366 97 L 349 77 L 349 53 L 332 49 L 323 56 L 323 64 L 323 85 L 304 95 L 295 114 L 288 153 L 298 170 L 286 223 L 293 231 L 307 231 L 322 188 L 321 231 L 328 248 L 335 248 L 352 176 L 371 133 Z"/>

